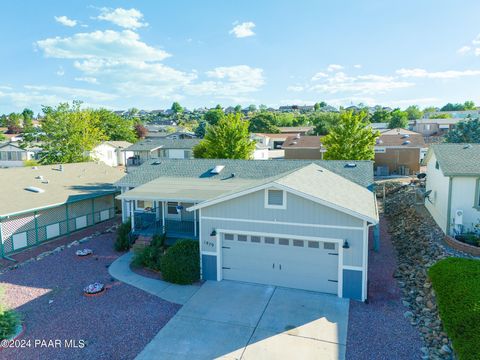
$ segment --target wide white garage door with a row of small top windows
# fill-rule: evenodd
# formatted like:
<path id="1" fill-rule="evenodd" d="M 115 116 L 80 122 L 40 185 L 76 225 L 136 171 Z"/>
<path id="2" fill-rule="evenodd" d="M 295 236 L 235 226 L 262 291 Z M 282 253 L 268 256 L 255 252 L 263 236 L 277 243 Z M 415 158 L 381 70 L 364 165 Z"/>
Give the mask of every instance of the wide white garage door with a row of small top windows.
<path id="1" fill-rule="evenodd" d="M 337 294 L 338 244 L 222 234 L 223 279 Z"/>

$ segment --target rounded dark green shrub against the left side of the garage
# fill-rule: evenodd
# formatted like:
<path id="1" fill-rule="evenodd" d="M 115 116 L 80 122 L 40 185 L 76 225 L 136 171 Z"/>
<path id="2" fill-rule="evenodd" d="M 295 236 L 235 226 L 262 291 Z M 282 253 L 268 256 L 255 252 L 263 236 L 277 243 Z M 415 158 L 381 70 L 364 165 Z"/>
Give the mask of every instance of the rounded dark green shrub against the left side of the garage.
<path id="1" fill-rule="evenodd" d="M 161 260 L 163 278 L 175 284 L 192 284 L 200 278 L 198 241 L 180 240 Z"/>

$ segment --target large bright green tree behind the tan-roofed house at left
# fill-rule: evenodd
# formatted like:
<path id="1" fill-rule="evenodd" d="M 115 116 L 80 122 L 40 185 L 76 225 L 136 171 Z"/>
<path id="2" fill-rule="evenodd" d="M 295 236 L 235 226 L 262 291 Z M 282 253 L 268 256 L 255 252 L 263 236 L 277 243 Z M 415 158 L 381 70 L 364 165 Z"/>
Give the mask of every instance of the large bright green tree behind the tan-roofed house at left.
<path id="1" fill-rule="evenodd" d="M 41 121 L 43 143 L 40 154 L 42 164 L 81 162 L 88 152 L 106 139 L 100 128 L 100 117 L 90 109 L 80 109 L 80 102 L 45 106 Z"/>

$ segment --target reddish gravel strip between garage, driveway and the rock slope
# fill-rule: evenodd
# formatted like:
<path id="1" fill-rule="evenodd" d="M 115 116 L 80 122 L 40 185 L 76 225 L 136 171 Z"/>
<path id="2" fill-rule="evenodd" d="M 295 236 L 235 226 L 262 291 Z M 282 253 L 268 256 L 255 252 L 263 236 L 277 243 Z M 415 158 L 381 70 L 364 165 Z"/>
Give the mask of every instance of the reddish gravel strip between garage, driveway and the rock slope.
<path id="1" fill-rule="evenodd" d="M 420 359 L 423 346 L 403 313 L 393 272 L 396 257 L 386 220 L 380 220 L 380 252 L 369 253 L 369 303 L 350 301 L 347 360 Z M 372 242 L 372 239 L 370 239 Z"/>

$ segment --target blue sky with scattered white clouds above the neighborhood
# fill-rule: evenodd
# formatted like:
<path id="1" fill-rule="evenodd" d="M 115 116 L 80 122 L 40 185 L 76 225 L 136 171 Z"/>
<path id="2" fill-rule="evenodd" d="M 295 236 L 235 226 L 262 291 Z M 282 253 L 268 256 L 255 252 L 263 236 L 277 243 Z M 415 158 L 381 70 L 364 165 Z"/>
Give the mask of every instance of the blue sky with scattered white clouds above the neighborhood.
<path id="1" fill-rule="evenodd" d="M 0 5 L 0 113 L 474 100 L 478 1 L 29 1 Z"/>

